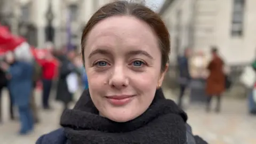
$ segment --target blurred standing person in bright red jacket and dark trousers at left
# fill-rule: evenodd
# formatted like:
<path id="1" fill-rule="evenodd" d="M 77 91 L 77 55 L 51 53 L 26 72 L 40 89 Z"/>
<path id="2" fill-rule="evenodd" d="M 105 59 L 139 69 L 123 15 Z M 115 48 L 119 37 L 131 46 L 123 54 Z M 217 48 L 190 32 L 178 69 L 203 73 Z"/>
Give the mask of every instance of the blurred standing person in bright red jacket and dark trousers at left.
<path id="1" fill-rule="evenodd" d="M 42 105 L 44 109 L 51 109 L 49 106 L 49 97 L 52 87 L 52 81 L 56 75 L 57 65 L 52 54 L 47 53 L 44 61 L 42 61 L 42 82 L 43 97 Z"/>

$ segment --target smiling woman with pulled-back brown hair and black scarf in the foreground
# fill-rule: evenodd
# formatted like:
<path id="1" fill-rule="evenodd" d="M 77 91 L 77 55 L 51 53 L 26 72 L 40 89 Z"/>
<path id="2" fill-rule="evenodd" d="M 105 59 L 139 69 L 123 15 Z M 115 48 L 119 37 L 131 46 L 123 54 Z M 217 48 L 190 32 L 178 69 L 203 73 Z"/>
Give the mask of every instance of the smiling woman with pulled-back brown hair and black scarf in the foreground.
<path id="1" fill-rule="evenodd" d="M 37 143 L 195 143 L 187 115 L 161 90 L 169 52 L 167 28 L 147 7 L 101 7 L 82 37 L 89 90 L 63 112 L 63 128 Z"/>

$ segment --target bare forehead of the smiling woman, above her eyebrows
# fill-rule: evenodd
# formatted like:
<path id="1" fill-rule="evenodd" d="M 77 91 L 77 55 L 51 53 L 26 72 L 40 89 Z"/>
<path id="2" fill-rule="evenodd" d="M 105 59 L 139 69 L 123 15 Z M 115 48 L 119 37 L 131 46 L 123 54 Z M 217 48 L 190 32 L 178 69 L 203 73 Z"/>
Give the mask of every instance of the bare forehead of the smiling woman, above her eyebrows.
<path id="1" fill-rule="evenodd" d="M 146 23 L 131 16 L 114 16 L 100 21 L 87 36 L 86 45 L 130 44 L 157 46 L 154 30 Z M 87 49 L 87 47 L 86 47 Z"/>

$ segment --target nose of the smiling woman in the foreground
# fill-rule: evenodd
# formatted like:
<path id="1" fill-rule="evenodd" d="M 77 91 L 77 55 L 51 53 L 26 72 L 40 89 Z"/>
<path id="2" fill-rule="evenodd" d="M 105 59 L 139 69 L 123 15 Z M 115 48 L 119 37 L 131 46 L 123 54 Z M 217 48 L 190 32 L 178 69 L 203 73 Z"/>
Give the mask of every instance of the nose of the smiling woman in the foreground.
<path id="1" fill-rule="evenodd" d="M 129 80 L 126 77 L 125 70 L 122 66 L 114 68 L 113 73 L 110 74 L 109 85 L 116 89 L 122 89 L 129 85 Z"/>

